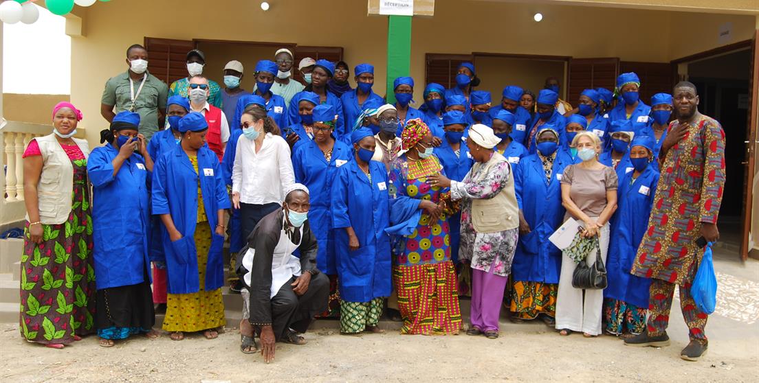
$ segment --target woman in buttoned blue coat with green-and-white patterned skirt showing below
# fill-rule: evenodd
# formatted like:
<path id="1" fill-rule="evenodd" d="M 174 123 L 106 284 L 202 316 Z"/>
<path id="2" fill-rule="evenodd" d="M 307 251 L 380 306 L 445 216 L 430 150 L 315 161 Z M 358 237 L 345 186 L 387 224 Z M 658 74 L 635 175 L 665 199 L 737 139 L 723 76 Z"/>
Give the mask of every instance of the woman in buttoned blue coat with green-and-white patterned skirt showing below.
<path id="1" fill-rule="evenodd" d="M 391 290 L 388 175 L 371 161 L 376 140 L 366 127 L 355 130 L 354 158 L 332 183 L 332 230 L 340 285 L 340 332 L 384 332 L 377 327 L 383 297 Z"/>

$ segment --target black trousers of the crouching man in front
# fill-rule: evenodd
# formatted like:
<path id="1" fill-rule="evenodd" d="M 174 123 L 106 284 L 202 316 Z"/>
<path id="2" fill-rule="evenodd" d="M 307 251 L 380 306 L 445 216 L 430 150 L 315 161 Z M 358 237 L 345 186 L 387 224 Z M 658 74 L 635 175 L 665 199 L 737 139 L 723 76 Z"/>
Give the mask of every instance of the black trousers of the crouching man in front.
<path id="1" fill-rule="evenodd" d="M 323 273 L 311 277 L 306 294 L 298 297 L 290 285 L 295 281 L 291 278 L 272 298 L 272 329 L 276 340 L 292 328 L 298 332 L 306 332 L 313 316 L 327 309 L 329 298 L 329 278 Z"/>

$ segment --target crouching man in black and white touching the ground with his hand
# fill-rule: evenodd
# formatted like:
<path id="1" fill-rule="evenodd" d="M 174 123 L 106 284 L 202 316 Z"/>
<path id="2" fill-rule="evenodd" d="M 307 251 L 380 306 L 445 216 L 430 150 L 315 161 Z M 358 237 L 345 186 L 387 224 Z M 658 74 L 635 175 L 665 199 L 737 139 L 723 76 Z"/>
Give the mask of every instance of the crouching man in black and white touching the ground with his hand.
<path id="1" fill-rule="evenodd" d="M 241 350 L 255 351 L 254 331 L 260 333 L 266 363 L 274 359 L 275 341 L 306 344 L 304 333 L 313 316 L 327 309 L 329 279 L 317 269 L 317 237 L 307 219 L 308 189 L 293 184 L 286 190 L 282 210 L 266 215 L 247 237 L 238 256 L 238 275 L 244 281 Z M 300 250 L 301 257 L 293 256 Z"/>

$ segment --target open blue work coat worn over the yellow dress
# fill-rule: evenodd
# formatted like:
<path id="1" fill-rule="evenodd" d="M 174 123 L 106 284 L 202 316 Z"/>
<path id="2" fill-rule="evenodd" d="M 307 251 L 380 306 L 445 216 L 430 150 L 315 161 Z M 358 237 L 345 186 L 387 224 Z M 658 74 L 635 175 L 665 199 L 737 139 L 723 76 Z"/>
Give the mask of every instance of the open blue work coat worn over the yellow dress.
<path id="1" fill-rule="evenodd" d="M 165 229 L 162 233 L 168 275 L 167 290 L 170 294 L 190 294 L 200 290 L 197 249 L 193 237 L 197 225 L 198 183 L 203 195 L 203 208 L 208 217 L 207 224 L 211 227 L 205 290 L 216 290 L 224 284 L 224 237 L 215 231 L 216 224 L 219 223 L 216 221 L 216 212 L 231 206 L 222 166 L 216 153 L 203 146 L 197 151 L 197 168 L 196 173 L 181 145 L 162 155 L 153 168 L 153 215 L 171 215 L 175 227 L 182 234 L 181 239 L 172 242 Z"/>

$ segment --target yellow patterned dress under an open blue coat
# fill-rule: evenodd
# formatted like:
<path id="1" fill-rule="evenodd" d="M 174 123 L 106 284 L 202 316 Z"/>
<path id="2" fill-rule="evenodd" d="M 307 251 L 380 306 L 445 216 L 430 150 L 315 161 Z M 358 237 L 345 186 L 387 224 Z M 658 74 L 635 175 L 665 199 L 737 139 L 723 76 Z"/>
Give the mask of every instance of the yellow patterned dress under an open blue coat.
<path id="1" fill-rule="evenodd" d="M 197 156 L 189 156 L 197 173 Z M 203 193 L 200 182 L 197 185 L 197 226 L 195 227 L 195 247 L 197 248 L 197 278 L 200 290 L 191 294 L 166 294 L 166 316 L 164 331 L 203 331 L 219 328 L 226 324 L 222 289 L 206 291 L 206 263 L 211 247 L 211 227 L 203 207 Z"/>

